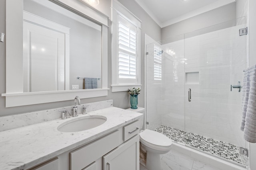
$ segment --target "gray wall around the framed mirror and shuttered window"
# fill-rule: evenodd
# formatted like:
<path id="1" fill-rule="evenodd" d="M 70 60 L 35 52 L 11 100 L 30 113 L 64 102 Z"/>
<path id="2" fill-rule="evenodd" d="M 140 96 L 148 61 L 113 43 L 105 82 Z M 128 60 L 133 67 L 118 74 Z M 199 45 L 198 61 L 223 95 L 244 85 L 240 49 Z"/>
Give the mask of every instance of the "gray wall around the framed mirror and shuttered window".
<path id="1" fill-rule="evenodd" d="M 139 106 L 144 107 L 144 33 L 148 34 L 150 37 L 153 37 L 156 40 L 161 39 L 161 29 L 160 27 L 146 14 L 140 6 L 134 0 L 119 0 L 128 10 L 134 13 L 141 21 L 142 21 L 142 36 L 141 36 L 141 70 L 142 70 L 142 93 L 139 96 Z M 111 1 L 109 0 L 108 3 Z M 111 4 L 107 4 L 106 7 L 110 7 Z M 109 16 L 110 8 L 107 10 L 101 10 L 102 12 L 106 12 L 106 15 Z M 0 1 L 0 32 L 5 33 L 6 27 L 6 0 Z M 111 26 L 111 21 L 109 21 L 109 26 Z M 111 28 L 108 29 L 108 88 L 111 89 Z M 8 35 L 6 35 L 8 36 Z M 6 93 L 6 43 L 0 43 L 0 94 Z M 22 64 L 22 63 L 20 63 Z M 88 98 L 82 99 L 82 103 L 89 102 L 98 102 L 102 100 L 113 99 L 114 106 L 120 108 L 128 108 L 130 107 L 130 97 L 127 92 L 111 92 L 108 91 L 108 96 L 98 97 L 98 98 Z M 29 106 L 19 106 L 19 107 L 5 107 L 5 97 L 0 96 L 0 116 L 3 115 L 11 115 L 18 113 L 26 113 L 30 111 L 38 111 L 44 109 L 51 109 L 56 107 L 63 106 L 72 106 L 74 104 L 73 100 L 63 101 L 63 102 L 53 102 L 46 104 L 36 104 Z"/>

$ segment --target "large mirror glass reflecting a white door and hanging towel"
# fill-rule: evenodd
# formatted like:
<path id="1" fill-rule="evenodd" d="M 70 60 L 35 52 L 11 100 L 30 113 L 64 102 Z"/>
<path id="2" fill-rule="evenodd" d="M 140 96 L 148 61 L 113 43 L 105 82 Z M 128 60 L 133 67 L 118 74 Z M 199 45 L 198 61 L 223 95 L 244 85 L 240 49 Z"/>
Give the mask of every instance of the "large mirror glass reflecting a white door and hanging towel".
<path id="1" fill-rule="evenodd" d="M 49 0 L 23 5 L 23 92 L 102 88 L 102 26 Z"/>

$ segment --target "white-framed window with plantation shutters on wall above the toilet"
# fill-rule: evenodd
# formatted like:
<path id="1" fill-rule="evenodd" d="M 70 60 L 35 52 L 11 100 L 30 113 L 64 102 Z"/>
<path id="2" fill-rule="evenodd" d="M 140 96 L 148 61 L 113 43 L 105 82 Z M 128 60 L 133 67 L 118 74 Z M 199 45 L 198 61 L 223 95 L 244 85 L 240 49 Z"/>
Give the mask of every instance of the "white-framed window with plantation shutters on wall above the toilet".
<path id="1" fill-rule="evenodd" d="M 112 6 L 112 92 L 140 87 L 141 21 L 120 2 Z"/>

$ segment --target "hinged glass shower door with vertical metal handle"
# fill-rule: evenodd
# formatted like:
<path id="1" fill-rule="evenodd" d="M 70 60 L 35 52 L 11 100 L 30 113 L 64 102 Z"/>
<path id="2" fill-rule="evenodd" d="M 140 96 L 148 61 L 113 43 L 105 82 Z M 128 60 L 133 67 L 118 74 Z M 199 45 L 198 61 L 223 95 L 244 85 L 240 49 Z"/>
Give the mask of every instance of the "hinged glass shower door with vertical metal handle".
<path id="1" fill-rule="evenodd" d="M 243 167 L 242 92 L 230 85 L 243 80 L 246 35 L 239 29 L 245 27 L 238 18 L 184 35 L 184 143 Z"/>

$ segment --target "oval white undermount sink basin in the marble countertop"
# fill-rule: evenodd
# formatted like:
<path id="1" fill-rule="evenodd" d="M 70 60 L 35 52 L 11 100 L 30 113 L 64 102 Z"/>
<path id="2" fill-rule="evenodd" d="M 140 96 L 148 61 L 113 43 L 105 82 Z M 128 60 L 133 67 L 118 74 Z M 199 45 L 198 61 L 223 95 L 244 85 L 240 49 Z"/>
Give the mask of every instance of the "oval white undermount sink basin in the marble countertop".
<path id="1" fill-rule="evenodd" d="M 61 132 L 78 132 L 85 131 L 88 129 L 92 129 L 99 125 L 102 125 L 107 121 L 107 118 L 104 116 L 92 115 L 92 116 L 84 116 L 77 117 L 76 119 L 72 119 L 70 121 L 66 121 L 60 124 L 57 129 Z"/>

